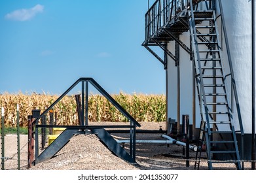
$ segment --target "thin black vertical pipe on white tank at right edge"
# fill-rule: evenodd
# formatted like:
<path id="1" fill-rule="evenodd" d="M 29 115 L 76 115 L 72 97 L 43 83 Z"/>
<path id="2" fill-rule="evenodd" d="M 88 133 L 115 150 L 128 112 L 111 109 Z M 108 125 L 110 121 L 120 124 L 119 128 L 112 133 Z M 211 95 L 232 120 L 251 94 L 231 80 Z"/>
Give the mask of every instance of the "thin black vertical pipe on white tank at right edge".
<path id="1" fill-rule="evenodd" d="M 254 12 L 255 3 L 254 0 L 251 0 L 251 97 L 252 97 L 252 111 L 251 111 L 251 169 L 255 170 L 255 12 Z"/>

